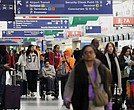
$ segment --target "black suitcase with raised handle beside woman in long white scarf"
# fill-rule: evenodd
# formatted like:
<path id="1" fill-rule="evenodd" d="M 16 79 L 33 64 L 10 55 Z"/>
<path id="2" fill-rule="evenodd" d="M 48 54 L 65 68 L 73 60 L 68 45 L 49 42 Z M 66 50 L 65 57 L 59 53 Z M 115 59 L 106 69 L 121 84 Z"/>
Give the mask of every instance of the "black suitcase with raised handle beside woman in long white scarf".
<path id="1" fill-rule="evenodd" d="M 115 86 L 116 93 L 112 96 L 112 110 L 122 110 L 122 95 L 118 94 L 117 86 Z"/>

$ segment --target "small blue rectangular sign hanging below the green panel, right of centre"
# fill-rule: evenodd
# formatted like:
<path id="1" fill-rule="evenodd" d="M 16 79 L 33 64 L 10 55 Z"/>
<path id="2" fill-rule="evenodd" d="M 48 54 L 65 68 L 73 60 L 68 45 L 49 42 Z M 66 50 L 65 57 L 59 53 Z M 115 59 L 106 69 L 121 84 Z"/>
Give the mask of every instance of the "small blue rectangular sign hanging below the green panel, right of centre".
<path id="1" fill-rule="evenodd" d="M 86 26 L 86 33 L 101 33 L 101 26 Z"/>

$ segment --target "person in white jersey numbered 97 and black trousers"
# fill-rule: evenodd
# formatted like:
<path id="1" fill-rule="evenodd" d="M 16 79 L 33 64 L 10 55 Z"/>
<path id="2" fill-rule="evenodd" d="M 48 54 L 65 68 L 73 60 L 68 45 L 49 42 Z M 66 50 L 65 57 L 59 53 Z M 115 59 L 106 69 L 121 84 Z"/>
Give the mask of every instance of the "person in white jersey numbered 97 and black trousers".
<path id="1" fill-rule="evenodd" d="M 26 76 L 28 82 L 28 90 L 31 92 L 31 97 L 34 97 L 34 92 L 37 91 L 37 76 L 40 70 L 40 58 L 34 50 L 34 45 L 29 45 L 26 51 Z"/>

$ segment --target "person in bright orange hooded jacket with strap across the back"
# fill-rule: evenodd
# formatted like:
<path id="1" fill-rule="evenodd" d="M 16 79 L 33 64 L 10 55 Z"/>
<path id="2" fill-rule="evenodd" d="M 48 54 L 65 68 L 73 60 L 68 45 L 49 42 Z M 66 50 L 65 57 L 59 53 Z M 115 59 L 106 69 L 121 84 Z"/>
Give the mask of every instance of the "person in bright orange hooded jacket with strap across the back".
<path id="1" fill-rule="evenodd" d="M 65 65 L 63 65 L 63 67 L 62 67 L 62 70 L 64 70 L 64 68 L 65 68 L 66 71 L 63 71 L 64 73 L 62 73 L 62 74 L 64 74 L 64 75 L 60 78 L 61 79 L 61 95 L 62 95 L 62 99 L 63 99 L 64 88 L 65 88 L 66 82 L 68 80 L 68 76 L 71 73 L 71 70 L 74 67 L 74 63 L 75 63 L 74 58 L 71 57 L 72 53 L 73 53 L 72 49 L 67 48 L 64 51 L 63 57 L 61 58 L 59 66 L 58 66 L 58 67 L 60 67 L 61 65 L 63 65 L 63 63 L 65 63 Z M 57 75 L 58 75 L 59 71 L 60 70 L 57 69 Z M 66 74 L 65 74 L 65 72 L 66 72 Z"/>

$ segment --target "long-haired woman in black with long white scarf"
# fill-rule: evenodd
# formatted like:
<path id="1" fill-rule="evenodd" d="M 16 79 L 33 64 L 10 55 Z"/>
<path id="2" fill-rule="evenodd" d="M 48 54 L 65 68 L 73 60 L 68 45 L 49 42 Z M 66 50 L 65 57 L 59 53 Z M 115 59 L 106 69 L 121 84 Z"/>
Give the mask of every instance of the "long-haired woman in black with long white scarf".
<path id="1" fill-rule="evenodd" d="M 107 59 L 107 64 L 108 64 L 107 67 L 110 69 L 112 73 L 112 85 L 111 85 L 112 94 L 114 94 L 115 84 L 118 85 L 121 94 L 122 86 L 121 86 L 120 64 L 117 58 L 115 46 L 112 42 L 107 43 L 104 53 Z"/>

